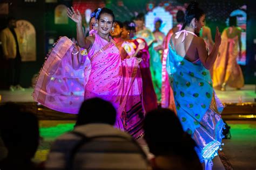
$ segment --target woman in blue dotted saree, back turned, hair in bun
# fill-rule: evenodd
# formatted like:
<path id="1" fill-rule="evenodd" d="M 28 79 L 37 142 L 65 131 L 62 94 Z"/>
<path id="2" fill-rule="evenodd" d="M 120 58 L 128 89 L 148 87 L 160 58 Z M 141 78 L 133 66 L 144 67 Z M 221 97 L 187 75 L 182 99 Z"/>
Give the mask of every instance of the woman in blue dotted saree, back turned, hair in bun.
<path id="1" fill-rule="evenodd" d="M 184 131 L 196 141 L 196 152 L 205 169 L 211 169 L 218 155 L 224 126 L 223 105 L 214 93 L 210 69 L 217 57 L 221 37 L 216 29 L 215 44 L 208 55 L 203 38 L 197 37 L 204 26 L 205 13 L 192 2 L 186 10 L 181 31 L 169 43 L 167 72 L 173 89 L 177 116 Z"/>

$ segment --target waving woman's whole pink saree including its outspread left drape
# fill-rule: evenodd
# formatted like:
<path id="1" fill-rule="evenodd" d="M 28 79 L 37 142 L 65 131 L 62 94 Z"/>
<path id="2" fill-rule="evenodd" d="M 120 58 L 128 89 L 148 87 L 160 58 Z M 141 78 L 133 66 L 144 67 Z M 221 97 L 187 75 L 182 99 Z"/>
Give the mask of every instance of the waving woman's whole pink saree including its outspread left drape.
<path id="1" fill-rule="evenodd" d="M 34 99 L 51 109 L 77 114 L 83 100 L 93 97 L 103 98 L 111 102 L 117 110 L 117 121 L 115 124 L 117 128 L 130 133 L 134 138 L 142 136 L 142 121 L 145 111 L 142 104 L 142 78 L 138 69 L 140 60 L 137 58 L 122 60 L 115 42 L 112 39 L 108 42 L 100 38 L 96 33 L 95 42 L 88 52 L 88 58 L 91 61 L 91 72 L 87 83 L 78 83 L 78 81 L 69 83 L 64 79 L 64 74 L 62 74 L 63 79 L 59 77 L 60 81 L 56 81 L 55 86 L 63 82 L 67 89 L 65 93 L 60 91 L 59 94 L 56 94 L 55 91 L 49 90 L 49 88 L 52 88 L 51 77 L 56 77 L 57 75 L 55 73 L 58 70 L 66 73 L 63 69 L 66 67 L 66 63 L 72 67 L 70 55 L 73 48 L 72 41 L 67 38 L 64 38 L 63 41 L 64 43 L 61 44 L 59 44 L 61 42 L 59 41 L 57 44 L 59 46 L 56 46 L 58 48 L 54 48 L 57 54 L 53 55 L 51 53 L 48 60 L 46 60 L 42 69 L 45 71 L 41 71 L 39 75 L 39 79 L 42 79 L 41 82 L 43 84 L 37 83 L 33 95 Z M 59 49 L 63 50 L 60 52 Z M 51 60 L 55 60 L 54 58 L 58 58 L 55 64 L 56 66 L 52 66 Z M 63 63 L 65 60 L 69 60 L 69 62 Z M 59 67 L 62 65 L 63 67 Z M 76 72 L 79 71 L 76 70 Z M 51 77 L 49 77 L 49 73 L 51 72 Z M 82 81 L 84 77 L 78 75 L 77 79 Z M 74 93 L 72 91 L 74 86 L 76 87 L 75 90 L 79 89 L 81 93 Z M 84 93 L 82 93 L 82 89 L 84 89 Z M 41 93 L 38 94 L 37 91 L 41 91 Z M 64 100 L 52 103 L 48 100 L 38 100 L 42 95 L 45 98 L 56 95 L 60 98 L 64 95 L 65 98 Z M 77 98 L 79 100 L 76 100 Z"/>

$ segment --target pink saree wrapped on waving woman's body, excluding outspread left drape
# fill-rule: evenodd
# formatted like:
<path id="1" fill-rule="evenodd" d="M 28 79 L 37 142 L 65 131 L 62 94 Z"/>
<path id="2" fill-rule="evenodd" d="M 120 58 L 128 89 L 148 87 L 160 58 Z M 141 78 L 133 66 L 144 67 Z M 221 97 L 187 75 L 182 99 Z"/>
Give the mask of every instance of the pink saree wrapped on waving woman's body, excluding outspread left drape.
<path id="1" fill-rule="evenodd" d="M 118 114 L 115 126 L 135 138 L 140 137 L 143 134 L 143 108 L 139 108 L 140 115 L 134 115 L 132 118 L 127 116 L 127 113 L 130 113 L 134 106 L 142 106 L 142 79 L 138 69 L 141 60 L 122 60 L 115 42 L 112 39 L 108 42 L 98 34 L 95 34 L 95 42 L 88 56 L 92 68 L 85 86 L 84 98 L 100 97 L 112 102 Z M 136 126 L 141 129 L 136 131 L 133 129 Z"/>

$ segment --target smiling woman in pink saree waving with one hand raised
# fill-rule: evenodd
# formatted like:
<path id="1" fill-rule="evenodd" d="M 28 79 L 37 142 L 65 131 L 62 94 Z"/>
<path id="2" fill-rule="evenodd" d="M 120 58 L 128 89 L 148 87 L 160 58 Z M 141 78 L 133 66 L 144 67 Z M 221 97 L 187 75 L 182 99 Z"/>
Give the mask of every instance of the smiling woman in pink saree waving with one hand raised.
<path id="1" fill-rule="evenodd" d="M 69 17 L 77 23 L 77 34 L 79 35 L 79 33 L 82 33 L 82 17 L 79 17 L 80 13 L 78 11 L 75 12 L 73 9 L 68 10 L 68 13 Z M 141 59 L 121 59 L 116 43 L 109 37 L 114 20 L 113 12 L 110 9 L 98 9 L 96 20 L 98 31 L 95 33 L 95 36 L 89 36 L 85 39 L 81 38 L 78 40 L 79 46 L 87 49 L 87 56 L 91 61 L 91 72 L 87 83 L 78 83 L 79 78 L 81 78 L 79 76 L 79 78 L 77 77 L 77 82 L 72 81 L 71 83 L 68 83 L 68 80 L 60 79 L 59 77 L 58 80 L 60 80 L 60 83 L 64 81 L 63 84 L 64 88 L 66 88 L 66 93 L 64 95 L 57 94 L 57 96 L 59 96 L 58 98 L 65 96 L 65 100 L 49 102 L 49 98 L 52 98 L 52 96 L 56 97 L 56 94 L 54 94 L 55 91 L 44 88 L 49 88 L 49 85 L 51 85 L 51 79 L 49 79 L 48 73 L 56 71 L 49 69 L 51 68 L 49 65 L 52 63 L 47 63 L 49 58 L 46 60 L 43 67 L 43 70 L 46 68 L 48 70 L 44 73 L 41 72 L 40 74 L 41 77 L 46 79 L 41 79 L 43 84 L 37 84 L 33 97 L 36 101 L 46 107 L 72 114 L 77 114 L 82 102 L 80 100 L 81 96 L 84 96 L 84 100 L 93 97 L 103 98 L 106 101 L 112 102 L 117 109 L 118 114 L 115 126 L 120 130 L 130 133 L 134 138 L 139 138 L 143 135 L 142 121 L 145 114 L 142 102 L 142 79 L 138 69 Z M 60 41 L 62 40 L 63 39 L 60 39 Z M 74 69 L 79 70 L 81 57 L 78 47 L 76 44 L 72 43 L 72 41 L 70 42 L 70 40 L 65 39 L 63 41 L 64 44 L 66 44 L 65 48 L 62 47 L 62 51 L 65 54 L 56 56 L 56 58 L 60 58 L 57 60 L 61 61 L 65 59 L 66 55 L 71 53 L 71 61 L 69 60 L 69 62 L 66 63 L 69 63 L 69 65 L 71 64 Z M 59 63 L 56 62 L 56 65 L 59 65 Z M 65 65 L 59 70 L 65 70 Z M 55 75 L 55 73 L 52 74 Z M 56 83 L 58 83 L 58 81 Z M 78 86 L 78 84 L 80 86 Z M 57 86 L 57 84 L 55 84 L 55 86 Z M 59 89 L 61 88 L 62 87 L 60 86 Z M 84 94 L 77 94 L 76 90 L 81 91 L 81 88 L 84 88 Z M 39 93 L 37 93 L 38 91 Z M 44 100 L 38 100 L 43 95 Z M 53 104 L 54 107 L 52 107 Z"/>

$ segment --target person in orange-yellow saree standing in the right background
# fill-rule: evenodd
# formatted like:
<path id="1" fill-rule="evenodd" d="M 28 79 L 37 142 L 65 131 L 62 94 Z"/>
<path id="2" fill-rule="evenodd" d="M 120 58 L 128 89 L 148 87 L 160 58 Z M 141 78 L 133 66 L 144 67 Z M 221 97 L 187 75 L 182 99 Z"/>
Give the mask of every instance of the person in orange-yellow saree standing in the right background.
<path id="1" fill-rule="evenodd" d="M 241 29 L 237 26 L 237 17 L 230 17 L 229 27 L 224 29 L 222 42 L 213 67 L 213 87 L 226 90 L 226 86 L 240 89 L 244 86 L 244 76 L 237 63 L 241 58 Z"/>

